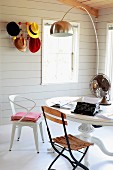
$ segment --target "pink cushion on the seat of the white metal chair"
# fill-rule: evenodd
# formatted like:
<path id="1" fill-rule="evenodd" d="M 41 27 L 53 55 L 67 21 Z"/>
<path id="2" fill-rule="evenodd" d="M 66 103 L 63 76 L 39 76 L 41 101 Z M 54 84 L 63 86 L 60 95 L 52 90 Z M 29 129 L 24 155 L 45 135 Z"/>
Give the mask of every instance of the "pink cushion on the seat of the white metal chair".
<path id="1" fill-rule="evenodd" d="M 23 115 L 25 115 L 26 112 L 17 112 L 15 115 L 11 116 L 11 120 L 20 120 Z M 40 113 L 37 112 L 30 112 L 28 115 L 26 115 L 22 121 L 30 121 L 30 122 L 36 122 L 38 118 L 41 116 Z"/>

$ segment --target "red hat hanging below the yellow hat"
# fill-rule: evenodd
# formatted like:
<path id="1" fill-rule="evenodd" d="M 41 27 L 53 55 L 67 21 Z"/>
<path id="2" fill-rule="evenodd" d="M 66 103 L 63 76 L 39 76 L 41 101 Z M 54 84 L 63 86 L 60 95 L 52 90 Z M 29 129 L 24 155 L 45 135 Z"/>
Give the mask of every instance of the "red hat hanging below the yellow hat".
<path id="1" fill-rule="evenodd" d="M 39 38 L 32 38 L 32 37 L 29 38 L 29 50 L 32 53 L 36 53 L 40 49 L 40 46 L 41 46 L 41 41 Z"/>

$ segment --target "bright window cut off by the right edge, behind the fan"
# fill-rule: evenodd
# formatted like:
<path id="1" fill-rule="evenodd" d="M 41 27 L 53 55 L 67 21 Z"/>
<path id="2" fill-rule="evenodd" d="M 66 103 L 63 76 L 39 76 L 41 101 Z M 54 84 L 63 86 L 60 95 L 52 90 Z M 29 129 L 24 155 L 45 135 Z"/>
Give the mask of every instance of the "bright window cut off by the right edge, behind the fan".
<path id="1" fill-rule="evenodd" d="M 113 99 L 113 23 L 107 25 L 106 75 L 111 81 L 111 99 Z"/>

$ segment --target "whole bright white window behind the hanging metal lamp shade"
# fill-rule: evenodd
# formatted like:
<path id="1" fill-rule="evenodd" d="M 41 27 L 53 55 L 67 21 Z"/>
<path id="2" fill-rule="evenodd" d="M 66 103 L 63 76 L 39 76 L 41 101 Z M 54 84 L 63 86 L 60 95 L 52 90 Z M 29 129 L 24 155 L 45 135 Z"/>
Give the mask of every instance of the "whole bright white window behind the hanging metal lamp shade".
<path id="1" fill-rule="evenodd" d="M 43 21 L 42 84 L 77 82 L 80 25 L 71 23 L 73 36 L 53 37 L 50 27 L 54 22 Z"/>

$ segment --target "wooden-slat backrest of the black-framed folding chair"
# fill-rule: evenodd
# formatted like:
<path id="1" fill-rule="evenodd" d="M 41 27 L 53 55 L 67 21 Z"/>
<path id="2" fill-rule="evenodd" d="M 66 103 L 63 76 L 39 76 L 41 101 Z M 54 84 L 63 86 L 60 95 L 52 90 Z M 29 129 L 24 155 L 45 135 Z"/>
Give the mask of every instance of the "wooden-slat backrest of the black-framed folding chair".
<path id="1" fill-rule="evenodd" d="M 42 111 L 43 111 L 43 116 L 44 116 L 45 123 L 47 126 L 47 132 L 48 132 L 50 142 L 52 143 L 52 136 L 51 136 L 51 130 L 47 122 L 47 119 L 55 123 L 62 124 L 64 135 L 67 136 L 66 127 L 65 127 L 65 125 L 67 125 L 66 115 L 60 112 L 59 110 L 55 110 L 47 106 L 42 106 Z"/>

